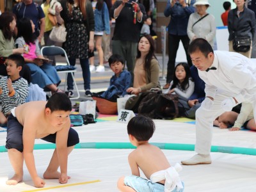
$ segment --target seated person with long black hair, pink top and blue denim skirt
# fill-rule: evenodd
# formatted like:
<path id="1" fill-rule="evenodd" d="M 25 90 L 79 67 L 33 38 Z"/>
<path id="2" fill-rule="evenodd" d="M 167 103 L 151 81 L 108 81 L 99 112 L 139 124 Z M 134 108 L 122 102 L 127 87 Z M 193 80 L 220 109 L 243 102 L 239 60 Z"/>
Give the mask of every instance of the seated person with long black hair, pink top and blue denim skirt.
<path id="1" fill-rule="evenodd" d="M 18 35 L 15 44 L 18 47 L 25 47 L 23 57 L 26 65 L 31 70 L 31 82 L 38 84 L 41 88 L 48 88 L 52 93 L 63 92 L 58 89 L 60 77 L 56 69 L 49 63 L 47 59 L 40 54 L 40 48 L 36 36 L 33 35 L 35 25 L 28 18 L 22 18 L 17 24 Z"/>

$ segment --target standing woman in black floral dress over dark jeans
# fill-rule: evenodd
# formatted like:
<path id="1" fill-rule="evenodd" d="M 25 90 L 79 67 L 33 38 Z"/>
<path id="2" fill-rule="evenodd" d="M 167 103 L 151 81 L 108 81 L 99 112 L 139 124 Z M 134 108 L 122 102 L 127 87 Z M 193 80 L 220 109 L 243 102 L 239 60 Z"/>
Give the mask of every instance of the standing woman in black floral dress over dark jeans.
<path id="1" fill-rule="evenodd" d="M 62 0 L 61 7 L 56 8 L 58 23 L 67 29 L 66 42 L 63 48 L 67 52 L 70 65 L 76 65 L 79 58 L 83 71 L 85 96 L 90 97 L 90 67 L 88 51 L 94 49 L 94 15 L 92 4 L 86 0 Z M 89 49 L 89 50 L 88 50 Z M 68 96 L 73 96 L 74 84 L 71 74 L 67 78 Z"/>

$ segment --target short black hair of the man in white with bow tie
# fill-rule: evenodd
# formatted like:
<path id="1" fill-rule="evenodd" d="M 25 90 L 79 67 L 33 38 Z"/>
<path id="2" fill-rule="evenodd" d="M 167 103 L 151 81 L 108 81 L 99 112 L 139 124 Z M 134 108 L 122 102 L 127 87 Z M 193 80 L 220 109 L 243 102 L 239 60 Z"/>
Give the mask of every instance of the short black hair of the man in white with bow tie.
<path id="1" fill-rule="evenodd" d="M 201 51 L 204 54 L 205 58 L 207 58 L 210 52 L 213 53 L 212 46 L 204 38 L 196 38 L 191 42 L 191 44 L 189 44 L 188 53 L 192 54 L 196 51 Z"/>

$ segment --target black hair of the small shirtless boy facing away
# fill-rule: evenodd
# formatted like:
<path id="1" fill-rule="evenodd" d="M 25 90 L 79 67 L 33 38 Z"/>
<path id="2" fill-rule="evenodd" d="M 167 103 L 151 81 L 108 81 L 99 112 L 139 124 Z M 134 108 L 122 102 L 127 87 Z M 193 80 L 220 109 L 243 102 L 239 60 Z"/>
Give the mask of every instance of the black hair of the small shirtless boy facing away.
<path id="1" fill-rule="evenodd" d="M 127 125 L 127 132 L 137 141 L 148 141 L 156 127 L 151 118 L 147 116 L 134 116 Z"/>

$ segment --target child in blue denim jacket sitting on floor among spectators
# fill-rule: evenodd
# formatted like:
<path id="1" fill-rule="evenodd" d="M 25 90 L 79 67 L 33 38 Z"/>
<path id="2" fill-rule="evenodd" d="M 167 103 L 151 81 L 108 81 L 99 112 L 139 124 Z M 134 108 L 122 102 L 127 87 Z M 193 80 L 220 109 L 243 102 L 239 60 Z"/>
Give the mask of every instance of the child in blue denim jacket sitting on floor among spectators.
<path id="1" fill-rule="evenodd" d="M 100 97 L 116 101 L 118 97 L 124 97 L 128 94 L 126 90 L 131 86 L 132 77 L 130 72 L 123 70 L 124 59 L 122 56 L 113 54 L 108 62 L 115 75 L 110 79 L 108 90 L 102 93 Z"/>

